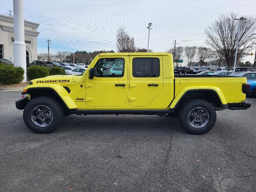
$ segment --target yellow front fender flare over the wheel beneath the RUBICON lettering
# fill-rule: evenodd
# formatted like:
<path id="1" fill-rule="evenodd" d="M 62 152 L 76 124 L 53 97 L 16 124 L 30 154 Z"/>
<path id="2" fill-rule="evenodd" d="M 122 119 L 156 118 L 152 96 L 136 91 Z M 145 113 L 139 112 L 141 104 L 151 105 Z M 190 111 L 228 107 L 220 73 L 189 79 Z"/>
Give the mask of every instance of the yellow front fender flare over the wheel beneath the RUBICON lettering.
<path id="1" fill-rule="evenodd" d="M 32 85 L 26 86 L 24 89 L 26 90 L 26 94 L 29 94 L 30 90 L 47 89 L 47 88 L 53 90 L 56 94 L 58 94 L 60 99 L 62 99 L 62 101 L 66 104 L 66 106 L 69 109 L 77 108 L 76 103 L 74 102 L 70 94 L 68 94 L 67 90 L 63 86 L 60 86 L 57 84 L 47 84 L 47 85 L 32 84 Z"/>

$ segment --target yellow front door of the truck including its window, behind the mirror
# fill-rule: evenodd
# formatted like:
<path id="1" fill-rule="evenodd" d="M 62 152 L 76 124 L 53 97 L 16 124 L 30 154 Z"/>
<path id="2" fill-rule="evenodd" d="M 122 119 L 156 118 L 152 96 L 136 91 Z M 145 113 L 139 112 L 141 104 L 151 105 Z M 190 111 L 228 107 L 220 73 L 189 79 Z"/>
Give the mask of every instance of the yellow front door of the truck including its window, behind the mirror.
<path id="1" fill-rule="evenodd" d="M 100 57 L 92 67 L 97 75 L 86 75 L 86 105 L 120 107 L 128 98 L 128 56 Z"/>

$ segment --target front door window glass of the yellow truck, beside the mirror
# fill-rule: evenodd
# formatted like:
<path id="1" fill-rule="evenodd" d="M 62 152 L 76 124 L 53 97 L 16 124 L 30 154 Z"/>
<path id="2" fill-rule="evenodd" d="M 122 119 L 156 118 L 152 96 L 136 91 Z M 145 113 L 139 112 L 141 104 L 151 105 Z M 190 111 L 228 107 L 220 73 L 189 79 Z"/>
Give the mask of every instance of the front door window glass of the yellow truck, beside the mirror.
<path id="1" fill-rule="evenodd" d="M 123 58 L 102 58 L 97 61 L 94 68 L 96 77 L 123 77 L 124 59 Z"/>

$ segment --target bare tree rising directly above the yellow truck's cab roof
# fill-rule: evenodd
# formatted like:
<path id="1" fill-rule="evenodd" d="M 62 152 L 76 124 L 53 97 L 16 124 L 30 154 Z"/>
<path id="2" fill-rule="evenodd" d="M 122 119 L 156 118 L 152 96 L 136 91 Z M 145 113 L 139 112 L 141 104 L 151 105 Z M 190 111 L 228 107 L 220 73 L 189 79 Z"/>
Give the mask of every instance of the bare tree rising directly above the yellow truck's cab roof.
<path id="1" fill-rule="evenodd" d="M 118 52 L 135 52 L 134 38 L 130 37 L 124 27 L 118 29 L 116 33 L 116 48 Z"/>

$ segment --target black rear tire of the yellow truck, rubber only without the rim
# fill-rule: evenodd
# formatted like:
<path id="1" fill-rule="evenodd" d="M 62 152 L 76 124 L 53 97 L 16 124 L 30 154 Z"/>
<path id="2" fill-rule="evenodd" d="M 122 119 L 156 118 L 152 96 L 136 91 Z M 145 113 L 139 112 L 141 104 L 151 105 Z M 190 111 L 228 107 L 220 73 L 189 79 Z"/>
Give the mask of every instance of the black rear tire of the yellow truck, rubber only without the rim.
<path id="1" fill-rule="evenodd" d="M 188 120 L 188 115 L 190 111 L 197 107 L 204 108 L 209 114 L 208 123 L 202 128 L 195 128 L 189 123 Z M 184 128 L 184 130 L 186 130 L 186 132 L 194 135 L 205 134 L 209 132 L 215 125 L 216 111 L 214 110 L 214 107 L 206 100 L 191 99 L 187 102 L 184 102 L 184 104 L 182 104 L 182 106 L 180 107 L 178 119 L 180 125 L 182 126 L 182 128 Z"/>

